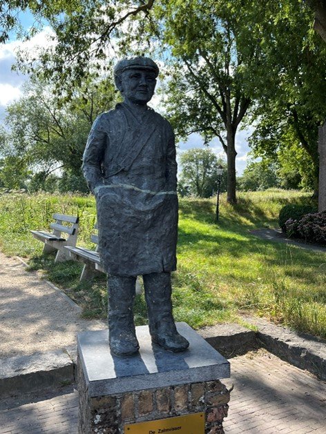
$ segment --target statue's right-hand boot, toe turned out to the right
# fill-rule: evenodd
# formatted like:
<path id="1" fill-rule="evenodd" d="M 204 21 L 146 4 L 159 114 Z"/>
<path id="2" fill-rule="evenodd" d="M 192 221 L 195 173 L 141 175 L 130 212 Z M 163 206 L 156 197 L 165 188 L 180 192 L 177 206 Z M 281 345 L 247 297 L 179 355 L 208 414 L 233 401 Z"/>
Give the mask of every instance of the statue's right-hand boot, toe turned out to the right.
<path id="1" fill-rule="evenodd" d="M 152 342 L 167 351 L 179 353 L 189 342 L 175 327 L 171 303 L 171 273 L 143 275 Z"/>

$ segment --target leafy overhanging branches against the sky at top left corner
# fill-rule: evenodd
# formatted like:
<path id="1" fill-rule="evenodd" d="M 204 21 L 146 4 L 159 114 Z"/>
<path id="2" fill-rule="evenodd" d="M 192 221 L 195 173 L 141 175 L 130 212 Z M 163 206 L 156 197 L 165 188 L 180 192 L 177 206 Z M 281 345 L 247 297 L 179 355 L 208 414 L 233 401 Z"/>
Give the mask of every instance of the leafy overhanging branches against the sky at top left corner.
<path id="1" fill-rule="evenodd" d="M 135 17 L 146 19 L 154 0 L 3 0 L 0 2 L 0 43 L 10 32 L 30 38 L 44 25 L 52 30 L 52 44 L 33 55 L 21 52 L 19 68 L 33 70 L 41 62 L 42 74 L 52 79 L 59 94 L 72 97 L 71 90 L 81 86 L 90 66 L 106 70 L 113 42 L 125 23 Z M 34 25 L 23 29 L 19 12 L 28 10 Z M 98 73 L 99 73 L 98 72 Z"/>

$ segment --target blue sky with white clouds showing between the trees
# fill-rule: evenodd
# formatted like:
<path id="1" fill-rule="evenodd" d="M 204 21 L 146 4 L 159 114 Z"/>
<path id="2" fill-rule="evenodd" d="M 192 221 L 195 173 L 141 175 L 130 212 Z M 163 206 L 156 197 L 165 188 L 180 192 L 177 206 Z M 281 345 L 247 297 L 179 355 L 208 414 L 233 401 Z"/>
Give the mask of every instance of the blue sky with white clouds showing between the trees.
<path id="1" fill-rule="evenodd" d="M 24 28 L 32 26 L 34 19 L 32 14 L 24 12 L 20 14 L 21 23 Z M 28 43 L 22 43 L 16 39 L 15 33 L 10 35 L 10 41 L 6 44 L 0 45 L 0 123 L 2 123 L 3 118 L 6 114 L 6 106 L 8 103 L 15 101 L 21 95 L 21 86 L 28 79 L 27 76 L 19 74 L 11 70 L 12 64 L 15 63 L 15 50 L 17 48 L 32 48 L 35 45 L 46 46 L 46 33 L 48 29 L 45 28 L 43 32 L 37 34 L 36 37 L 32 38 Z M 156 103 L 153 101 L 153 106 Z M 242 175 L 244 168 L 247 165 L 247 155 L 249 152 L 249 147 L 247 145 L 247 139 L 251 134 L 251 128 L 247 130 L 240 131 L 236 137 L 236 151 L 238 152 L 236 158 L 236 170 L 237 175 Z M 181 142 L 178 148 L 178 153 L 184 152 L 191 148 L 201 148 L 203 146 L 203 140 L 198 134 L 192 134 L 186 142 Z M 210 144 L 211 148 L 218 157 L 224 157 L 225 154 L 222 150 L 222 145 L 218 139 L 213 139 Z"/>

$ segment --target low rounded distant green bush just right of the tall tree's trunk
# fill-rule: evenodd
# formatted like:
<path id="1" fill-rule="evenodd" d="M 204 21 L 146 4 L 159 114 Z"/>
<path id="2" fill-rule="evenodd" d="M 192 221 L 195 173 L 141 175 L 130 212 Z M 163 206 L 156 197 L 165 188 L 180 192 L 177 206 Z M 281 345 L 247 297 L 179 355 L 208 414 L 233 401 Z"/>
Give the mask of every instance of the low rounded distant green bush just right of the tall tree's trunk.
<path id="1" fill-rule="evenodd" d="M 275 164 L 262 161 L 251 161 L 245 168 L 242 177 L 238 178 L 239 190 L 257 191 L 280 186 Z"/>

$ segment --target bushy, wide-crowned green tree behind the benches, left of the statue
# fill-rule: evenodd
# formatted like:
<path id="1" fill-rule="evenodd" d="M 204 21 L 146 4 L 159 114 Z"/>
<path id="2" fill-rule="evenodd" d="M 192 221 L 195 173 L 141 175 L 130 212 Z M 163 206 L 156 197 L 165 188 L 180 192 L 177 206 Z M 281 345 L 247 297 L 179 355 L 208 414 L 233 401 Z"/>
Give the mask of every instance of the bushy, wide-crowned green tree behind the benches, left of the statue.
<path id="1" fill-rule="evenodd" d="M 86 192 L 86 183 L 81 179 L 81 157 L 88 133 L 97 115 L 112 108 L 115 100 L 111 79 L 86 81 L 75 90 L 73 99 L 64 103 L 53 95 L 53 86 L 32 77 L 23 97 L 8 107 L 8 130 L 2 132 L 0 141 L 6 155 L 3 186 L 17 187 L 31 175 L 31 192 L 54 191 L 58 189 L 55 179 L 60 169 L 61 191 L 76 187 Z"/>

